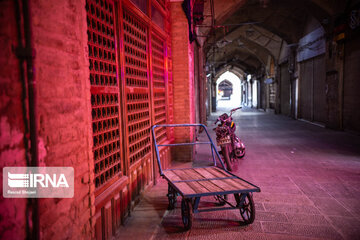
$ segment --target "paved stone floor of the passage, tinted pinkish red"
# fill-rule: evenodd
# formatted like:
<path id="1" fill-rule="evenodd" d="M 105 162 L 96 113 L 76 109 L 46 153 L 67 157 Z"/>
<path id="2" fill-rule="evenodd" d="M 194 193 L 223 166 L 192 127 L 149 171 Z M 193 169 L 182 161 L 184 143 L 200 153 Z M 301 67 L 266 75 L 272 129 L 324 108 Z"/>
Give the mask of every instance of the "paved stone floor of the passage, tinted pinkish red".
<path id="1" fill-rule="evenodd" d="M 199 213 L 184 231 L 181 199 L 166 210 L 167 184 L 160 180 L 118 239 L 360 239 L 360 136 L 250 109 L 234 119 L 246 145 L 234 172 L 261 188 L 254 193 L 255 222 L 241 225 L 237 210 Z M 202 161 L 193 164 L 203 164 L 206 151 L 197 149 Z"/>

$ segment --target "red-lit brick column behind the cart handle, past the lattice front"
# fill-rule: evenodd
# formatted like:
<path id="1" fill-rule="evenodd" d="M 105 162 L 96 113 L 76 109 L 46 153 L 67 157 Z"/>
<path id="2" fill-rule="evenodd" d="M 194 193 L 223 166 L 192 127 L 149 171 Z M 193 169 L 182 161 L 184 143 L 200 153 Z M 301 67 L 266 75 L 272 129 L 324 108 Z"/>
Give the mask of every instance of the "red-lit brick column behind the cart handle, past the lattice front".
<path id="1" fill-rule="evenodd" d="M 194 54 L 189 42 L 189 26 L 182 9 L 182 1 L 171 2 L 171 38 L 174 84 L 174 123 L 194 123 Z M 175 128 L 175 142 L 191 142 L 195 129 Z M 191 161 L 193 150 L 176 147 L 173 159 Z"/>

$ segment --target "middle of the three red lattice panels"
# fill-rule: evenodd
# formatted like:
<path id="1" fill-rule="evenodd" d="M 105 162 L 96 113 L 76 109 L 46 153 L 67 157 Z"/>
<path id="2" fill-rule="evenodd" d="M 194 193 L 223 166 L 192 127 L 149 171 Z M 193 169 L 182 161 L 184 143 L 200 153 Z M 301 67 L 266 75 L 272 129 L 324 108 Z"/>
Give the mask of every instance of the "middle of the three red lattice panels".
<path id="1" fill-rule="evenodd" d="M 147 29 L 127 9 L 123 29 L 128 154 L 133 164 L 151 151 Z"/>

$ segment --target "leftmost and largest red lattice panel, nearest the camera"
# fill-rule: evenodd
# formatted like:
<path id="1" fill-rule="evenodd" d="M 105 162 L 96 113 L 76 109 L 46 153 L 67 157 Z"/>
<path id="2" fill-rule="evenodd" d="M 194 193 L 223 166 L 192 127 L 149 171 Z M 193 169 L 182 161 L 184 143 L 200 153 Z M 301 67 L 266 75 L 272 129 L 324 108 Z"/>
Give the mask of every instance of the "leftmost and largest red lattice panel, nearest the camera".
<path id="1" fill-rule="evenodd" d="M 95 186 L 121 172 L 114 5 L 87 0 Z"/>

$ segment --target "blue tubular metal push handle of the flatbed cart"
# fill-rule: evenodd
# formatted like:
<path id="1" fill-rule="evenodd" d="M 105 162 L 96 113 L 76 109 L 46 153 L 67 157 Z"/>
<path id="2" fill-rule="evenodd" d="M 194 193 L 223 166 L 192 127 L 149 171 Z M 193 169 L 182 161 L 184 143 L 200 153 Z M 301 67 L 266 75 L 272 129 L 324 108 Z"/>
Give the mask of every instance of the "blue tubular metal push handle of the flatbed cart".
<path id="1" fill-rule="evenodd" d="M 193 143 L 173 143 L 173 144 L 163 144 L 163 145 L 158 145 L 156 142 L 156 136 L 155 136 L 155 128 L 157 127 L 202 127 L 205 130 L 205 133 L 207 135 L 207 137 L 209 138 L 209 142 L 193 142 Z M 162 167 L 161 167 L 161 161 L 160 161 L 160 153 L 159 153 L 159 146 L 182 146 L 182 145 L 195 145 L 195 144 L 210 144 L 212 150 L 215 150 L 216 156 L 219 159 L 221 166 L 223 167 L 223 169 L 227 172 L 227 169 L 225 167 L 224 162 L 222 161 L 219 152 L 216 150 L 216 147 L 214 145 L 214 142 L 212 141 L 209 132 L 207 131 L 207 128 L 204 124 L 200 124 L 200 123 L 194 123 L 194 124 L 159 124 L 159 125 L 154 125 L 151 128 L 151 132 L 152 132 L 152 136 L 153 136 L 153 140 L 154 140 L 154 146 L 155 146 L 155 151 L 156 151 L 156 159 L 159 165 L 159 172 L 160 172 L 160 176 L 164 176 Z M 214 157 L 214 154 L 212 154 L 213 160 L 214 160 L 214 165 L 216 166 L 216 160 Z"/>

